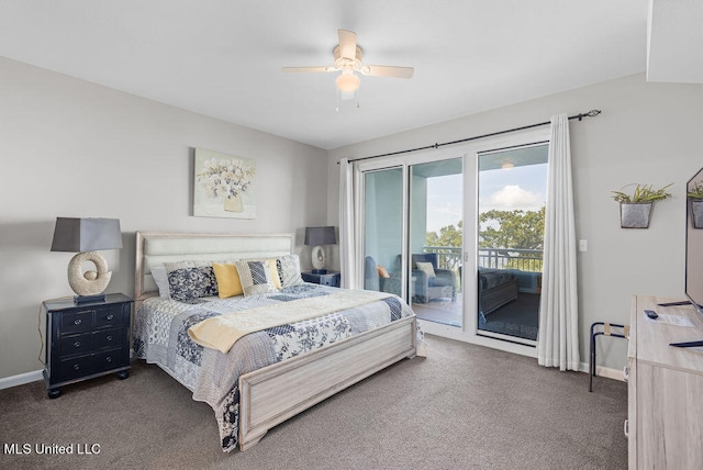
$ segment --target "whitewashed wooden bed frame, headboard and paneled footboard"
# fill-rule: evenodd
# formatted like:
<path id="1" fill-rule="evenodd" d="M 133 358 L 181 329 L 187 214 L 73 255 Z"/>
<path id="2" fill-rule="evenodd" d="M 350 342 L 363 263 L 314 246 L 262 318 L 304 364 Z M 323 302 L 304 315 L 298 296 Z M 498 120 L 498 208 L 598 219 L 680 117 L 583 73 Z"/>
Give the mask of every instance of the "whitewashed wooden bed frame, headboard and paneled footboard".
<path id="1" fill-rule="evenodd" d="M 293 234 L 136 233 L 134 296 L 158 295 L 150 267 L 186 259 L 288 255 Z M 239 378 L 239 449 L 289 417 L 403 359 L 415 356 L 416 320 L 404 317 Z M 159 365 L 159 367 L 161 367 Z"/>

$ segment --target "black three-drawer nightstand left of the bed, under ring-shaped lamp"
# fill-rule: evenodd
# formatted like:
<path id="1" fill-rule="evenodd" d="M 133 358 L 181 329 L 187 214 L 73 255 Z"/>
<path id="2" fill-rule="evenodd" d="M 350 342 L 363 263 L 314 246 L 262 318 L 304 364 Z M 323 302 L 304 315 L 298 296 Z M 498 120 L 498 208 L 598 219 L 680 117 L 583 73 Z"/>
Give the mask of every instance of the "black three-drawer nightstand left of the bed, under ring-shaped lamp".
<path id="1" fill-rule="evenodd" d="M 42 303 L 46 315 L 44 382 L 49 399 L 62 387 L 108 373 L 130 374 L 132 299 L 108 294 L 104 302 L 76 304 L 72 298 Z"/>

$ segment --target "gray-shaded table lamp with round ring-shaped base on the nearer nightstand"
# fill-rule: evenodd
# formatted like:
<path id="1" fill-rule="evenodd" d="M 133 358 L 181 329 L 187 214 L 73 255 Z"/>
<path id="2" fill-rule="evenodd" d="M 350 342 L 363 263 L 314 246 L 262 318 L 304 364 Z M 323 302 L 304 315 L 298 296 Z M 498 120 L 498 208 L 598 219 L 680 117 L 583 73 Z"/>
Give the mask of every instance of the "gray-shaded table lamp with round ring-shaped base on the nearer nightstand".
<path id="1" fill-rule="evenodd" d="M 119 219 L 56 217 L 52 251 L 77 253 L 68 264 L 68 284 L 78 295 L 75 303 L 104 302 L 104 290 L 112 272 L 99 249 L 122 248 Z M 92 262 L 96 270 L 81 272 L 83 262 Z"/>

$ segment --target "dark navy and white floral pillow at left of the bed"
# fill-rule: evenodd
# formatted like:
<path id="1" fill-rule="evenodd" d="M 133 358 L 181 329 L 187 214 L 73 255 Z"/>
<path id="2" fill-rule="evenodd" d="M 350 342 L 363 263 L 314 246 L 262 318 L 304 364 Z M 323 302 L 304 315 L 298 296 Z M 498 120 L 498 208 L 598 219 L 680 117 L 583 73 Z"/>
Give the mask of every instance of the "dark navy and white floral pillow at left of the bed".
<path id="1" fill-rule="evenodd" d="M 164 262 L 170 296 L 188 302 L 202 296 L 217 295 L 217 279 L 212 261 Z"/>

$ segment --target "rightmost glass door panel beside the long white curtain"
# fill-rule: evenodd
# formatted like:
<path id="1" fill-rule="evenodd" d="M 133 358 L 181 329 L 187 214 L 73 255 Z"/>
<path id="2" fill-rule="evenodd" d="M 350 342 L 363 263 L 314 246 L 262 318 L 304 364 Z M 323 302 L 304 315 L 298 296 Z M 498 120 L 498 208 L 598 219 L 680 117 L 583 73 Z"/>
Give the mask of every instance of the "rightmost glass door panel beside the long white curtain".
<path id="1" fill-rule="evenodd" d="M 547 153 L 540 144 L 478 155 L 479 334 L 537 340 Z"/>

